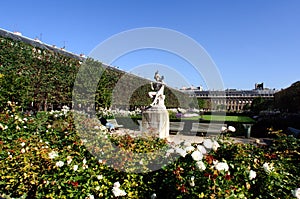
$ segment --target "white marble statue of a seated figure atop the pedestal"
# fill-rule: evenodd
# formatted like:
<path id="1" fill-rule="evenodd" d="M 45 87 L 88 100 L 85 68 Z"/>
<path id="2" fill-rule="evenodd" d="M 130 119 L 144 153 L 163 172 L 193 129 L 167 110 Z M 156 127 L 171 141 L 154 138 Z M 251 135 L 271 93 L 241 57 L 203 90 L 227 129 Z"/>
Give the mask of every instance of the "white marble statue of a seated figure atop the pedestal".
<path id="1" fill-rule="evenodd" d="M 150 104 L 150 107 L 155 105 L 165 106 L 165 95 L 164 95 L 165 82 L 163 81 L 164 76 L 160 76 L 158 74 L 158 71 L 156 71 L 154 74 L 154 79 L 156 80 L 156 82 L 154 84 L 153 82 L 151 82 L 151 89 L 154 91 L 148 93 L 149 97 L 153 99 L 153 102 Z"/>

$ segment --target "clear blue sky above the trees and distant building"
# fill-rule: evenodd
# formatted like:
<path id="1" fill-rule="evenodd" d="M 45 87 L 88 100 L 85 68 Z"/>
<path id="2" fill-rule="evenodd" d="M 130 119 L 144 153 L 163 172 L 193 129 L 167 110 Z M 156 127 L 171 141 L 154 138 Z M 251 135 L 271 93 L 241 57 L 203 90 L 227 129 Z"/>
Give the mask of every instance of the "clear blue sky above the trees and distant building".
<path id="1" fill-rule="evenodd" d="M 299 0 L 15 0 L 0 5 L 0 28 L 65 45 L 77 54 L 88 55 L 112 35 L 142 27 L 173 29 L 197 41 L 217 65 L 225 88 L 252 89 L 264 82 L 281 89 L 300 80 Z M 128 54 L 114 65 L 135 72 L 148 63 L 176 65 L 179 73 L 190 67 L 151 50 Z M 205 87 L 193 72 L 185 78 Z M 175 83 L 171 86 L 186 85 Z"/>

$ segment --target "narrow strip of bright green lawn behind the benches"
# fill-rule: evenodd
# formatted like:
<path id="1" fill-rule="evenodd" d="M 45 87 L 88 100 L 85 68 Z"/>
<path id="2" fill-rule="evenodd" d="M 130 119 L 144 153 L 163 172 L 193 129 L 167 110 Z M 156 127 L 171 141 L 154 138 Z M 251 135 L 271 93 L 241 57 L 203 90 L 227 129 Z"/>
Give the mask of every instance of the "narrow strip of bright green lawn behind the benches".
<path id="1" fill-rule="evenodd" d="M 222 116 L 222 115 L 203 115 L 197 117 L 184 118 L 187 120 L 198 120 L 202 118 L 204 121 L 225 121 L 225 122 L 241 122 L 241 123 L 252 123 L 254 120 L 248 116 Z"/>

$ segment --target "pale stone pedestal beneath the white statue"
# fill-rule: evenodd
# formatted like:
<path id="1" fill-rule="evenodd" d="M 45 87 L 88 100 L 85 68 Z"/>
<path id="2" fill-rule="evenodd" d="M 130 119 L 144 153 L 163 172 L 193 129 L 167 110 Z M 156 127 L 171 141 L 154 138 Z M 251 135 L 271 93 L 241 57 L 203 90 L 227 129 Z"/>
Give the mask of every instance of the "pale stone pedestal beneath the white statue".
<path id="1" fill-rule="evenodd" d="M 142 113 L 142 132 L 158 134 L 159 138 L 169 137 L 169 113 L 165 106 L 153 106 Z"/>

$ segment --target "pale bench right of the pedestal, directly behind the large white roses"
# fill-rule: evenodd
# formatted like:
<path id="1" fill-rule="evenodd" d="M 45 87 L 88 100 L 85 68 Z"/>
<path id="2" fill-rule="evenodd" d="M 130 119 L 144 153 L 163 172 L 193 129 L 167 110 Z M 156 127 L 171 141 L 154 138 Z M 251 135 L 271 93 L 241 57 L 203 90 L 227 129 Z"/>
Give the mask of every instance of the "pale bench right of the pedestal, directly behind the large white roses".
<path id="1" fill-rule="evenodd" d="M 192 123 L 192 133 L 200 136 L 217 136 L 222 135 L 222 127 L 227 127 L 222 123 Z"/>

